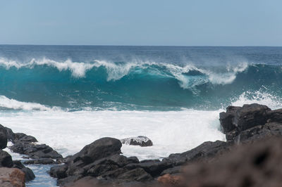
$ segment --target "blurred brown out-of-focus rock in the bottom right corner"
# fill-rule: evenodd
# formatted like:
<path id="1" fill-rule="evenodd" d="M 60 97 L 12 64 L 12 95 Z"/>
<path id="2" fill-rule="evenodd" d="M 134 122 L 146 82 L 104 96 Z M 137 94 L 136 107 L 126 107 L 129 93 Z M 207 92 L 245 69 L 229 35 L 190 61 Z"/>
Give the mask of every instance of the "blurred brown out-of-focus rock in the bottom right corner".
<path id="1" fill-rule="evenodd" d="M 281 186 L 282 138 L 262 139 L 235 148 L 215 162 L 197 162 L 183 169 L 178 186 Z M 166 177 L 168 178 L 168 177 Z M 169 181 L 164 181 L 167 186 Z"/>

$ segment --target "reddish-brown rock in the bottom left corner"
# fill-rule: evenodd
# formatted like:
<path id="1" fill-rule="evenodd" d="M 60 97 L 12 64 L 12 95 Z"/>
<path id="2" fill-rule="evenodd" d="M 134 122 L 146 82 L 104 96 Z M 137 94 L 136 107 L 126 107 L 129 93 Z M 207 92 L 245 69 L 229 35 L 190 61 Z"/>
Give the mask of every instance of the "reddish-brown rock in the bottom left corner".
<path id="1" fill-rule="evenodd" d="M 0 186 L 25 186 L 25 174 L 17 168 L 0 167 Z"/>

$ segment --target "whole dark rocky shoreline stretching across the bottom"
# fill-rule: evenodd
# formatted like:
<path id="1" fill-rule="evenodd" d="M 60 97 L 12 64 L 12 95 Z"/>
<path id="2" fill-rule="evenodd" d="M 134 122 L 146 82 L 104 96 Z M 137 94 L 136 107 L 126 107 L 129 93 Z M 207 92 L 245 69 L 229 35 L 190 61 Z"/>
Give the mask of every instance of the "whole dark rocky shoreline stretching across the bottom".
<path id="1" fill-rule="evenodd" d="M 226 142 L 204 142 L 192 150 L 171 154 L 163 160 L 140 161 L 137 157 L 121 155 L 122 143 L 152 146 L 152 141 L 145 136 L 123 140 L 100 138 L 82 148 L 79 153 L 62 157 L 51 147 L 37 144 L 35 137 L 13 133 L 11 129 L 0 126 L 0 148 L 6 148 L 7 141 L 11 141 L 13 143 L 13 146 L 9 146 L 11 151 L 26 155 L 30 159 L 23 162 L 24 165 L 56 164 L 51 167 L 49 174 L 57 179 L 57 184 L 60 186 L 207 186 L 207 183 L 209 183 L 208 186 L 211 184 L 212 186 L 243 186 L 242 183 L 246 183 L 247 186 L 255 184 L 259 186 L 257 180 L 265 177 L 258 178 L 259 175 L 251 175 L 252 177 L 247 178 L 239 175 L 233 176 L 234 179 L 237 179 L 237 183 L 233 181 L 234 185 L 228 184 L 226 177 L 231 177 L 232 164 L 234 167 L 241 168 L 240 162 L 245 162 L 245 165 L 242 165 L 244 168 L 251 164 L 260 165 L 259 162 L 262 162 L 265 157 L 271 157 L 267 154 L 272 154 L 272 152 L 274 152 L 274 157 L 277 157 L 278 153 L 272 150 L 271 146 L 275 146 L 274 141 L 282 145 L 279 138 L 273 140 L 274 137 L 282 135 L 282 109 L 271 110 L 266 105 L 255 103 L 243 105 L 243 107 L 229 106 L 226 112 L 219 114 L 219 120 L 221 131 L 226 134 Z M 262 153 L 259 152 L 259 148 Z M 234 159 L 236 154 L 238 157 Z M 247 157 L 255 161 L 250 164 L 244 160 Z M 17 176 L 20 176 L 18 180 L 21 183 L 17 181 L 18 186 L 24 186 L 25 181 L 35 178 L 31 169 L 25 167 L 20 160 L 12 160 L 11 155 L 4 150 L 1 150 L 0 153 L 0 163 L 1 167 L 8 167 L 13 170 L 12 172 L 16 172 Z M 201 169 L 205 172 L 201 172 Z M 260 171 L 252 170 L 252 167 L 247 169 L 249 170 L 246 171 L 249 172 Z M 259 169 L 264 171 L 262 167 Z M 0 170 L 0 184 L 3 182 L 1 171 L 3 170 Z M 242 173 L 245 174 L 245 172 Z M 277 172 L 277 174 L 280 173 Z M 269 176 L 272 175 L 269 174 Z M 278 179 L 280 178 L 277 177 L 276 181 Z M 16 181 L 16 179 L 11 179 L 11 181 Z"/>

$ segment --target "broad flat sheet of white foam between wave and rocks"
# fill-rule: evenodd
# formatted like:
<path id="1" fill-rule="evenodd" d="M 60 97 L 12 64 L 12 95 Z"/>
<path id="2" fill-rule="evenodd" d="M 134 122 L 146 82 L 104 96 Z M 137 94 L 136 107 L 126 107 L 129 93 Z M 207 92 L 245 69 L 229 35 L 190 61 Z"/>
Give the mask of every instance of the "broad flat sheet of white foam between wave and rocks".
<path id="1" fill-rule="evenodd" d="M 2 111 L 0 122 L 15 132 L 35 136 L 40 143 L 47 143 L 64 156 L 77 153 L 83 146 L 104 136 L 118 139 L 147 136 L 154 146 L 122 147 L 124 155 L 135 155 L 143 160 L 190 150 L 204 141 L 224 140 L 219 131 L 219 112 Z"/>

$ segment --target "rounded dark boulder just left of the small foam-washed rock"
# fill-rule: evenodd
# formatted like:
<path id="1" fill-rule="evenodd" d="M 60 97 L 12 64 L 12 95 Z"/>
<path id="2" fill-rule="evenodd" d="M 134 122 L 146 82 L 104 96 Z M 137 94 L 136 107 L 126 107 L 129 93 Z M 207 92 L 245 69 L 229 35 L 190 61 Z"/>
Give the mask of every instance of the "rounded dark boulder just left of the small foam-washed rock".
<path id="1" fill-rule="evenodd" d="M 100 138 L 73 155 L 73 162 L 82 160 L 85 164 L 89 164 L 100 158 L 119 153 L 121 153 L 121 141 L 116 138 Z"/>

